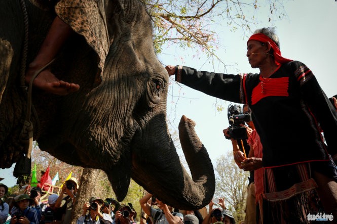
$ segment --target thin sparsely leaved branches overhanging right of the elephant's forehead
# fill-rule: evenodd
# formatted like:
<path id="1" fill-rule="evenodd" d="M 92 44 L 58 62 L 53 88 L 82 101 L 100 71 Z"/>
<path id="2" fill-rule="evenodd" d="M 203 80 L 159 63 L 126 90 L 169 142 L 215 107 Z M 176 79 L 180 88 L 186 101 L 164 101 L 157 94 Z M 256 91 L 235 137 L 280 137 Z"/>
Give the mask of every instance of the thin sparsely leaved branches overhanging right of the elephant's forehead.
<path id="1" fill-rule="evenodd" d="M 226 21 L 229 30 L 250 30 L 254 14 L 269 5 L 266 20 L 285 16 L 279 0 L 141 0 L 152 16 L 155 27 L 155 49 L 161 53 L 165 43 L 181 48 L 201 48 L 210 56 L 218 46 L 214 25 Z M 251 16 L 247 16 L 251 15 Z M 216 56 L 215 56 L 216 57 Z"/>

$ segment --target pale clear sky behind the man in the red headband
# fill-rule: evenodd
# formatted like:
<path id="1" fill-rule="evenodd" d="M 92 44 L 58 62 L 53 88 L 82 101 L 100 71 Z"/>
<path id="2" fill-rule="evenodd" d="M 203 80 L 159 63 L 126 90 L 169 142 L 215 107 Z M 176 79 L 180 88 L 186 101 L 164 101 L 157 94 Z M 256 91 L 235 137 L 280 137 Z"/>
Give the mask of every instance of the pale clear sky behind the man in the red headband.
<path id="1" fill-rule="evenodd" d="M 336 95 L 337 2 L 334 0 L 295 0 L 284 3 L 284 8 L 287 18 L 281 21 L 268 22 L 266 14 L 268 10 L 261 9 L 259 13 L 255 13 L 258 23 L 251 26 L 252 30 L 275 26 L 280 37 L 282 55 L 305 63 L 315 74 L 326 95 L 328 97 Z M 159 56 L 160 61 L 165 65 L 186 65 L 199 70 L 228 74 L 258 73 L 257 69 L 252 69 L 248 64 L 247 37 L 240 30 L 235 33 L 230 32 L 226 21 L 223 23 L 223 26 L 219 24 L 216 28 L 222 46 L 217 51 L 217 55 L 228 65 L 226 70 L 219 64 L 213 67 L 202 54 L 193 57 L 196 52 L 181 51 L 172 46 L 164 49 L 164 53 Z M 249 34 L 249 32 L 246 33 L 246 35 Z M 193 119 L 196 122 L 196 132 L 215 164 L 217 157 L 232 150 L 230 141 L 226 140 L 222 134 L 222 129 L 229 126 L 227 107 L 230 102 L 216 100 L 187 86 L 180 88 L 173 79 L 171 82 L 167 100 L 167 115 L 170 120 L 173 120 L 171 128 L 178 126 L 182 115 Z M 215 103 L 222 104 L 226 110 L 217 112 Z M 181 151 L 178 153 L 182 154 Z M 10 187 L 16 183 L 16 179 L 12 177 L 12 169 L 0 169 L 0 177 L 5 177 L 2 183 Z"/>

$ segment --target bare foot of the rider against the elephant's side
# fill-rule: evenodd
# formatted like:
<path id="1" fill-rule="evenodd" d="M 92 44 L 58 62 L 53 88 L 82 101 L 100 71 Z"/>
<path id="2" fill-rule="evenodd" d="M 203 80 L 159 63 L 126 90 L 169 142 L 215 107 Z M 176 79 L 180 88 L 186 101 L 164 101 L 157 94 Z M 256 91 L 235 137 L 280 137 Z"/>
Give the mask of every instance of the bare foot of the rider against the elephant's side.
<path id="1" fill-rule="evenodd" d="M 25 81 L 29 84 L 33 73 L 36 70 L 29 69 L 25 76 Z M 40 72 L 33 81 L 33 86 L 42 89 L 51 94 L 65 96 L 67 94 L 76 92 L 80 89 L 79 84 L 69 83 L 56 78 L 56 76 L 48 69 Z"/>

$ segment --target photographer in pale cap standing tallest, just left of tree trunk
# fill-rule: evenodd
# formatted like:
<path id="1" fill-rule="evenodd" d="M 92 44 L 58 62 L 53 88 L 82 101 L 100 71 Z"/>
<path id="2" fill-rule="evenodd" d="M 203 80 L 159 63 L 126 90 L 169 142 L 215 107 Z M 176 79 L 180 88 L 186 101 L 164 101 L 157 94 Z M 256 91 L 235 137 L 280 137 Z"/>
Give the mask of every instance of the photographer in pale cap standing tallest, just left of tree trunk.
<path id="1" fill-rule="evenodd" d="M 55 207 L 62 208 L 62 212 L 64 214 L 62 223 L 68 224 L 71 221 L 71 211 L 73 204 L 76 201 L 76 193 L 79 189 L 79 185 L 77 183 L 76 178 L 70 177 L 63 186 L 60 195 L 58 196 Z M 67 196 L 63 198 L 63 194 Z"/>

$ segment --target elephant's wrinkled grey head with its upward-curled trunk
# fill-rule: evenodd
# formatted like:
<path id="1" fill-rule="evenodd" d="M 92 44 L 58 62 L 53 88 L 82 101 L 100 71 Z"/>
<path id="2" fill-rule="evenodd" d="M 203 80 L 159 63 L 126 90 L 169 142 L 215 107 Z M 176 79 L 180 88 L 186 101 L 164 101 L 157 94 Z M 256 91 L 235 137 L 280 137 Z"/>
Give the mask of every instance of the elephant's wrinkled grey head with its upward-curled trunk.
<path id="1" fill-rule="evenodd" d="M 169 77 L 154 53 L 151 17 L 137 0 L 108 1 L 105 7 L 111 44 L 102 82 L 93 89 L 88 84 L 92 80 L 85 73 L 93 70 L 94 57 L 89 48 L 72 49 L 83 42 L 73 37 L 72 50 L 54 70 L 81 89 L 66 97 L 34 93 L 39 146 L 69 164 L 104 170 L 120 201 L 132 177 L 164 203 L 201 208 L 214 193 L 212 163 L 194 122 L 184 116 L 179 137 L 192 177 L 180 163 L 166 123 Z M 8 161 L 2 161 L 3 168 Z"/>

